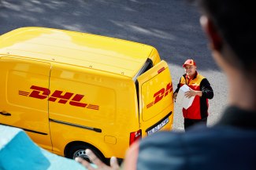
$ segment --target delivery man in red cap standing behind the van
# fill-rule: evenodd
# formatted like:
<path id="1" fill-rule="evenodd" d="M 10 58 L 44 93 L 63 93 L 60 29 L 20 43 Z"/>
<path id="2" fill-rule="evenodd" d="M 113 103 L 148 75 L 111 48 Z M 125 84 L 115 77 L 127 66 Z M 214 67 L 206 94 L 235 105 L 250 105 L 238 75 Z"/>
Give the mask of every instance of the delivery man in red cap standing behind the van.
<path id="1" fill-rule="evenodd" d="M 208 99 L 213 99 L 213 89 L 207 78 L 198 74 L 195 60 L 186 60 L 183 67 L 185 74 L 180 78 L 177 89 L 173 93 L 173 99 L 176 100 L 180 87 L 183 85 L 187 85 L 189 87 L 189 91 L 185 92 L 184 96 L 187 98 L 191 98 L 192 96 L 195 97 L 190 107 L 187 109 L 182 108 L 184 129 L 187 131 L 191 126 L 199 123 L 201 125 L 207 125 L 207 118 L 209 115 Z"/>

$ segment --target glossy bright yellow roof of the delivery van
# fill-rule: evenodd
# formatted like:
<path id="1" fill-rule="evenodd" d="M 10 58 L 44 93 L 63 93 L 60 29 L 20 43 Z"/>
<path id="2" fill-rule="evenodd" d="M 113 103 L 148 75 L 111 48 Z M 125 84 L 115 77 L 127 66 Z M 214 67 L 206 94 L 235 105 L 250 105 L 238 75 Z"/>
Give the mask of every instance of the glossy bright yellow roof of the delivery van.
<path id="1" fill-rule="evenodd" d="M 133 78 L 154 47 L 117 38 L 45 27 L 0 36 L 0 54 L 67 63 Z"/>

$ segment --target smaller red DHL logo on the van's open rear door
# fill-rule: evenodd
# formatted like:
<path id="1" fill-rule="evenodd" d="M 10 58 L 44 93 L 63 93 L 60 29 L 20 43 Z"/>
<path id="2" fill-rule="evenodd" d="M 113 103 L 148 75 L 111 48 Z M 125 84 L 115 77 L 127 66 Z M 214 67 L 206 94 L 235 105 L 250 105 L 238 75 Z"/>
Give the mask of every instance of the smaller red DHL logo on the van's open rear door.
<path id="1" fill-rule="evenodd" d="M 154 104 L 158 103 L 161 99 L 163 99 L 172 91 L 173 85 L 169 82 L 169 84 L 166 85 L 166 88 L 162 88 L 158 92 L 154 93 L 154 102 L 147 104 L 147 109 L 152 107 Z"/>

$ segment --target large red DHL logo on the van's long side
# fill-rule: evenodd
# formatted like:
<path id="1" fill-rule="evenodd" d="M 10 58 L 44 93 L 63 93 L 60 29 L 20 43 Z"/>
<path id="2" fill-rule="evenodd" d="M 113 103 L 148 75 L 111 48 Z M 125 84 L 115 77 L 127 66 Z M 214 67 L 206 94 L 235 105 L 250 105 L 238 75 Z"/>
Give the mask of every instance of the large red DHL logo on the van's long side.
<path id="1" fill-rule="evenodd" d="M 46 99 L 50 102 L 56 102 L 66 104 L 69 102 L 70 105 L 74 107 L 85 107 L 87 109 L 99 110 L 98 105 L 81 103 L 80 101 L 83 99 L 83 95 L 74 94 L 72 92 L 63 92 L 60 90 L 55 90 L 52 94 L 50 94 L 50 89 L 46 89 L 43 87 L 32 85 L 30 89 L 33 89 L 32 92 L 24 92 L 19 91 L 19 95 L 21 96 L 29 96 L 36 99 Z"/>

